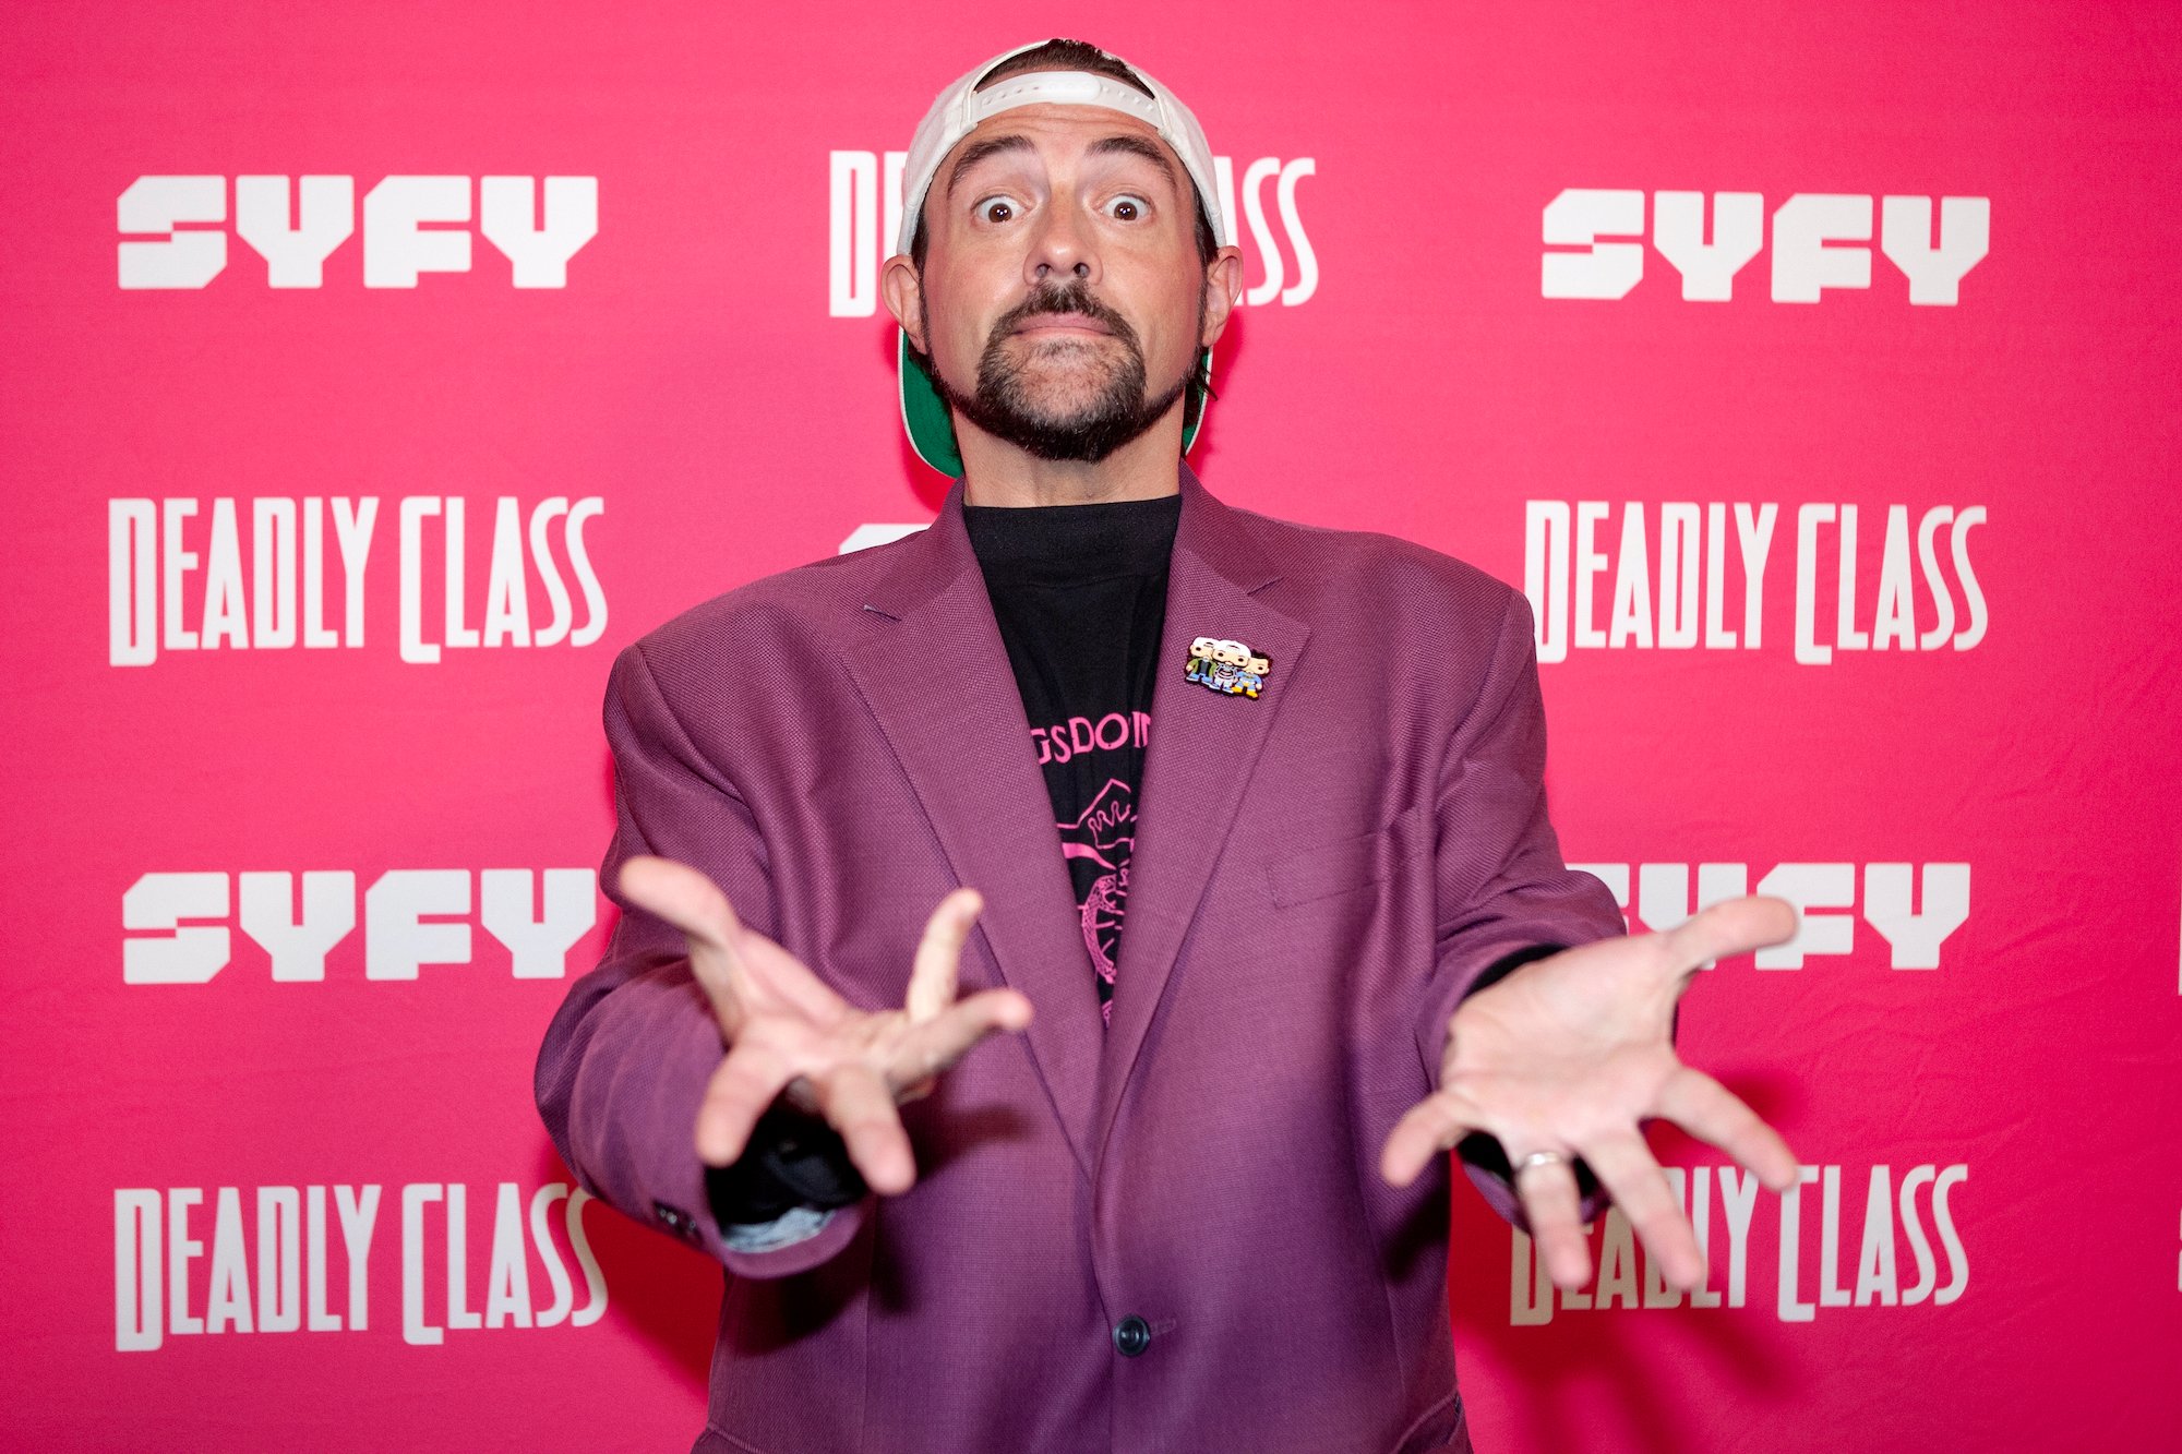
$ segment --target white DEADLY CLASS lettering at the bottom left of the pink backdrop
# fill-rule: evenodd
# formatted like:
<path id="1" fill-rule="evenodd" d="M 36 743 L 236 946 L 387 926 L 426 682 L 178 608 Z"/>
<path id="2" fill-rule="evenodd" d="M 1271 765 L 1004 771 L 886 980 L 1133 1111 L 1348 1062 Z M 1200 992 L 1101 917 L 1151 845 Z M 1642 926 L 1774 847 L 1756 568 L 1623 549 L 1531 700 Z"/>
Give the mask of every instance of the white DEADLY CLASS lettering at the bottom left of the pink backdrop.
<path id="1" fill-rule="evenodd" d="M 122 1188 L 113 1192 L 113 1347 L 148 1354 L 166 1336 L 284 1334 L 371 1330 L 371 1244 L 384 1188 L 332 1188 L 340 1223 L 347 1297 L 340 1312 L 327 1297 L 334 1242 L 323 1185 L 262 1185 L 255 1218 L 242 1209 L 242 1188 L 223 1185 L 212 1199 L 212 1255 L 205 1255 L 205 1188 Z M 607 1312 L 607 1275 L 591 1255 L 583 1209 L 594 1199 L 548 1181 L 528 1199 L 502 1181 L 493 1199 L 491 1253 L 484 1264 L 484 1308 L 471 1306 L 469 1188 L 460 1181 L 412 1181 L 401 1188 L 401 1340 L 434 1347 L 447 1332 L 504 1327 L 589 1327 Z M 430 1214 L 428 1207 L 443 1207 Z M 559 1207 L 559 1216 L 554 1209 Z M 561 1240 L 554 1238 L 561 1225 Z M 251 1255 L 255 1253 L 255 1255 Z M 432 1255 L 439 1253 L 439 1255 Z M 570 1264 L 583 1273 L 576 1306 Z M 203 1264 L 199 1268 L 199 1264 Z M 543 1273 L 552 1301 L 537 1306 L 532 1271 Z M 253 1297 L 255 1275 L 255 1297 Z M 199 1312 L 203 1310 L 203 1312 Z M 434 1314 L 443 1321 L 434 1321 Z"/>

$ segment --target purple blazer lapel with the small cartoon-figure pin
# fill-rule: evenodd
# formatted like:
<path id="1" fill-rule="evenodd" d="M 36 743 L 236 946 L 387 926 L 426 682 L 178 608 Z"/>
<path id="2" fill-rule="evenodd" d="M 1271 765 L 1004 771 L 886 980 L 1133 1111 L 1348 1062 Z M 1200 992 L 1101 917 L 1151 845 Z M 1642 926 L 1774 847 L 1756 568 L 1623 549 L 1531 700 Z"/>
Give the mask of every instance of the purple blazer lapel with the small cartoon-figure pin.
<path id="1" fill-rule="evenodd" d="M 1167 620 L 1128 865 L 1128 917 L 1113 976 L 1113 1024 L 1100 1063 L 1093 1168 L 1113 1133 L 1152 1011 L 1174 974 L 1183 934 L 1281 712 L 1283 683 L 1294 679 L 1311 633 L 1255 598 L 1281 576 L 1244 515 L 1207 493 L 1189 465 L 1180 467 L 1180 487 L 1183 513 L 1167 570 Z M 1270 655 L 1272 672 L 1261 696 L 1228 696 L 1187 681 L 1189 640 L 1198 635 L 1233 637 Z"/>

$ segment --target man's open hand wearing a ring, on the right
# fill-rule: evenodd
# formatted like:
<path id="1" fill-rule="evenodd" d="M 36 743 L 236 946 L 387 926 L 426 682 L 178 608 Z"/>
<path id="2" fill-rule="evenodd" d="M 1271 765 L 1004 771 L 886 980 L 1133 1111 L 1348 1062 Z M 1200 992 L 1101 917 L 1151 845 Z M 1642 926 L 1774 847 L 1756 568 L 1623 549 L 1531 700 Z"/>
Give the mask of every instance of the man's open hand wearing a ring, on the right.
<path id="1" fill-rule="evenodd" d="M 1719 1146 L 1774 1192 L 1796 1183 L 1796 1155 L 1757 1111 L 1669 1041 L 1674 1004 L 1706 961 L 1783 943 L 1796 910 L 1772 897 L 1715 904 L 1665 934 L 1599 939 L 1532 961 L 1462 1002 L 1447 1028 L 1440 1089 L 1386 1137 L 1379 1175 L 1410 1185 L 1471 1131 L 1508 1151 L 1516 1194 L 1554 1282 L 1591 1279 L 1578 1223 L 1582 1157 L 1634 1225 L 1665 1279 L 1693 1288 L 1704 1258 L 1652 1159 L 1639 1122 L 1667 1118 Z M 1525 1157 L 1554 1153 L 1556 1159 Z M 1564 1157 L 1564 1159 L 1560 1159 Z"/>

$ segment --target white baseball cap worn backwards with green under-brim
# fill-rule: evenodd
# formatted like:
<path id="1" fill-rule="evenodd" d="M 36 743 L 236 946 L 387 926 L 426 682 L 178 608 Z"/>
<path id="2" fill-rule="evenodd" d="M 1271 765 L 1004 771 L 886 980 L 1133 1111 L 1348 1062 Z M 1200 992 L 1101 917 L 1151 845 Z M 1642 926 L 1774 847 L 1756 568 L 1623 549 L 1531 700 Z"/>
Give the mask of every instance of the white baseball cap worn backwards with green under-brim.
<path id="1" fill-rule="evenodd" d="M 1152 127 L 1159 138 L 1174 148 L 1174 155 L 1180 157 L 1183 170 L 1189 172 L 1189 181 L 1198 192 L 1198 203 L 1204 207 L 1204 218 L 1213 227 L 1213 240 L 1222 247 L 1233 245 L 1235 225 L 1220 205 L 1213 151 L 1204 142 L 1204 129 L 1198 127 L 1198 118 L 1191 116 L 1189 107 L 1185 107 L 1174 92 L 1143 74 L 1141 68 L 1122 61 L 1128 65 L 1130 74 L 1143 81 L 1146 90 L 1152 92 L 1150 96 L 1126 81 L 1089 70 L 1030 70 L 1019 76 L 995 81 L 982 92 L 978 90 L 978 83 L 993 74 L 993 70 L 997 70 L 1004 61 L 1045 44 L 1050 41 L 1030 41 L 995 55 L 984 65 L 964 72 L 954 85 L 940 92 L 940 98 L 932 103 L 930 111 L 925 111 L 925 120 L 916 124 L 916 135 L 910 140 L 910 155 L 901 168 L 901 234 L 895 251 L 910 251 L 910 242 L 916 238 L 916 221 L 925 210 L 925 192 L 932 190 L 932 179 L 938 175 L 940 162 L 947 159 L 947 153 L 956 148 L 956 142 L 975 131 L 988 116 L 999 116 L 1002 111 L 1036 103 L 1104 107 L 1108 111 L 1135 116 Z M 1122 57 L 1108 59 L 1119 61 Z M 908 430 L 910 443 L 916 448 L 916 454 L 940 474 L 962 474 L 962 452 L 956 448 L 954 415 L 947 410 L 947 402 L 938 395 L 938 389 L 932 384 L 923 365 L 910 356 L 908 332 L 901 334 L 897 358 L 897 371 L 901 378 L 901 426 Z M 1204 349 L 1198 365 L 1202 367 L 1209 358 L 1211 349 Z M 1198 426 L 1202 424 L 1204 410 L 1200 408 L 1198 419 L 1183 434 L 1183 450 L 1191 445 Z"/>

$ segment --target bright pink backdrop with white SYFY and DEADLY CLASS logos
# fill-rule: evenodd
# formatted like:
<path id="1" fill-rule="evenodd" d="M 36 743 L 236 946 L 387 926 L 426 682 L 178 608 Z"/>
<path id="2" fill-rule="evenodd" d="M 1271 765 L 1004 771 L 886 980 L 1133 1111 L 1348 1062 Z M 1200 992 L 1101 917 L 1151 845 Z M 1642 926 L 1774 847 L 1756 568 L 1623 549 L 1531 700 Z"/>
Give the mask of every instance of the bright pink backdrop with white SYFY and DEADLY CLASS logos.
<path id="1" fill-rule="evenodd" d="M 1220 157 L 1207 485 L 1527 592 L 1554 821 L 1632 930 L 1802 908 L 1682 1009 L 1805 1161 L 1661 1129 L 1702 1288 L 1608 1212 L 1558 1292 L 1458 1190 L 1479 1447 L 2171 1439 L 2171 7 L 0 31 L 0 1445 L 698 1432 L 720 1268 L 530 1100 L 611 930 L 607 666 L 932 517 L 901 153 L 1054 33 Z"/>

